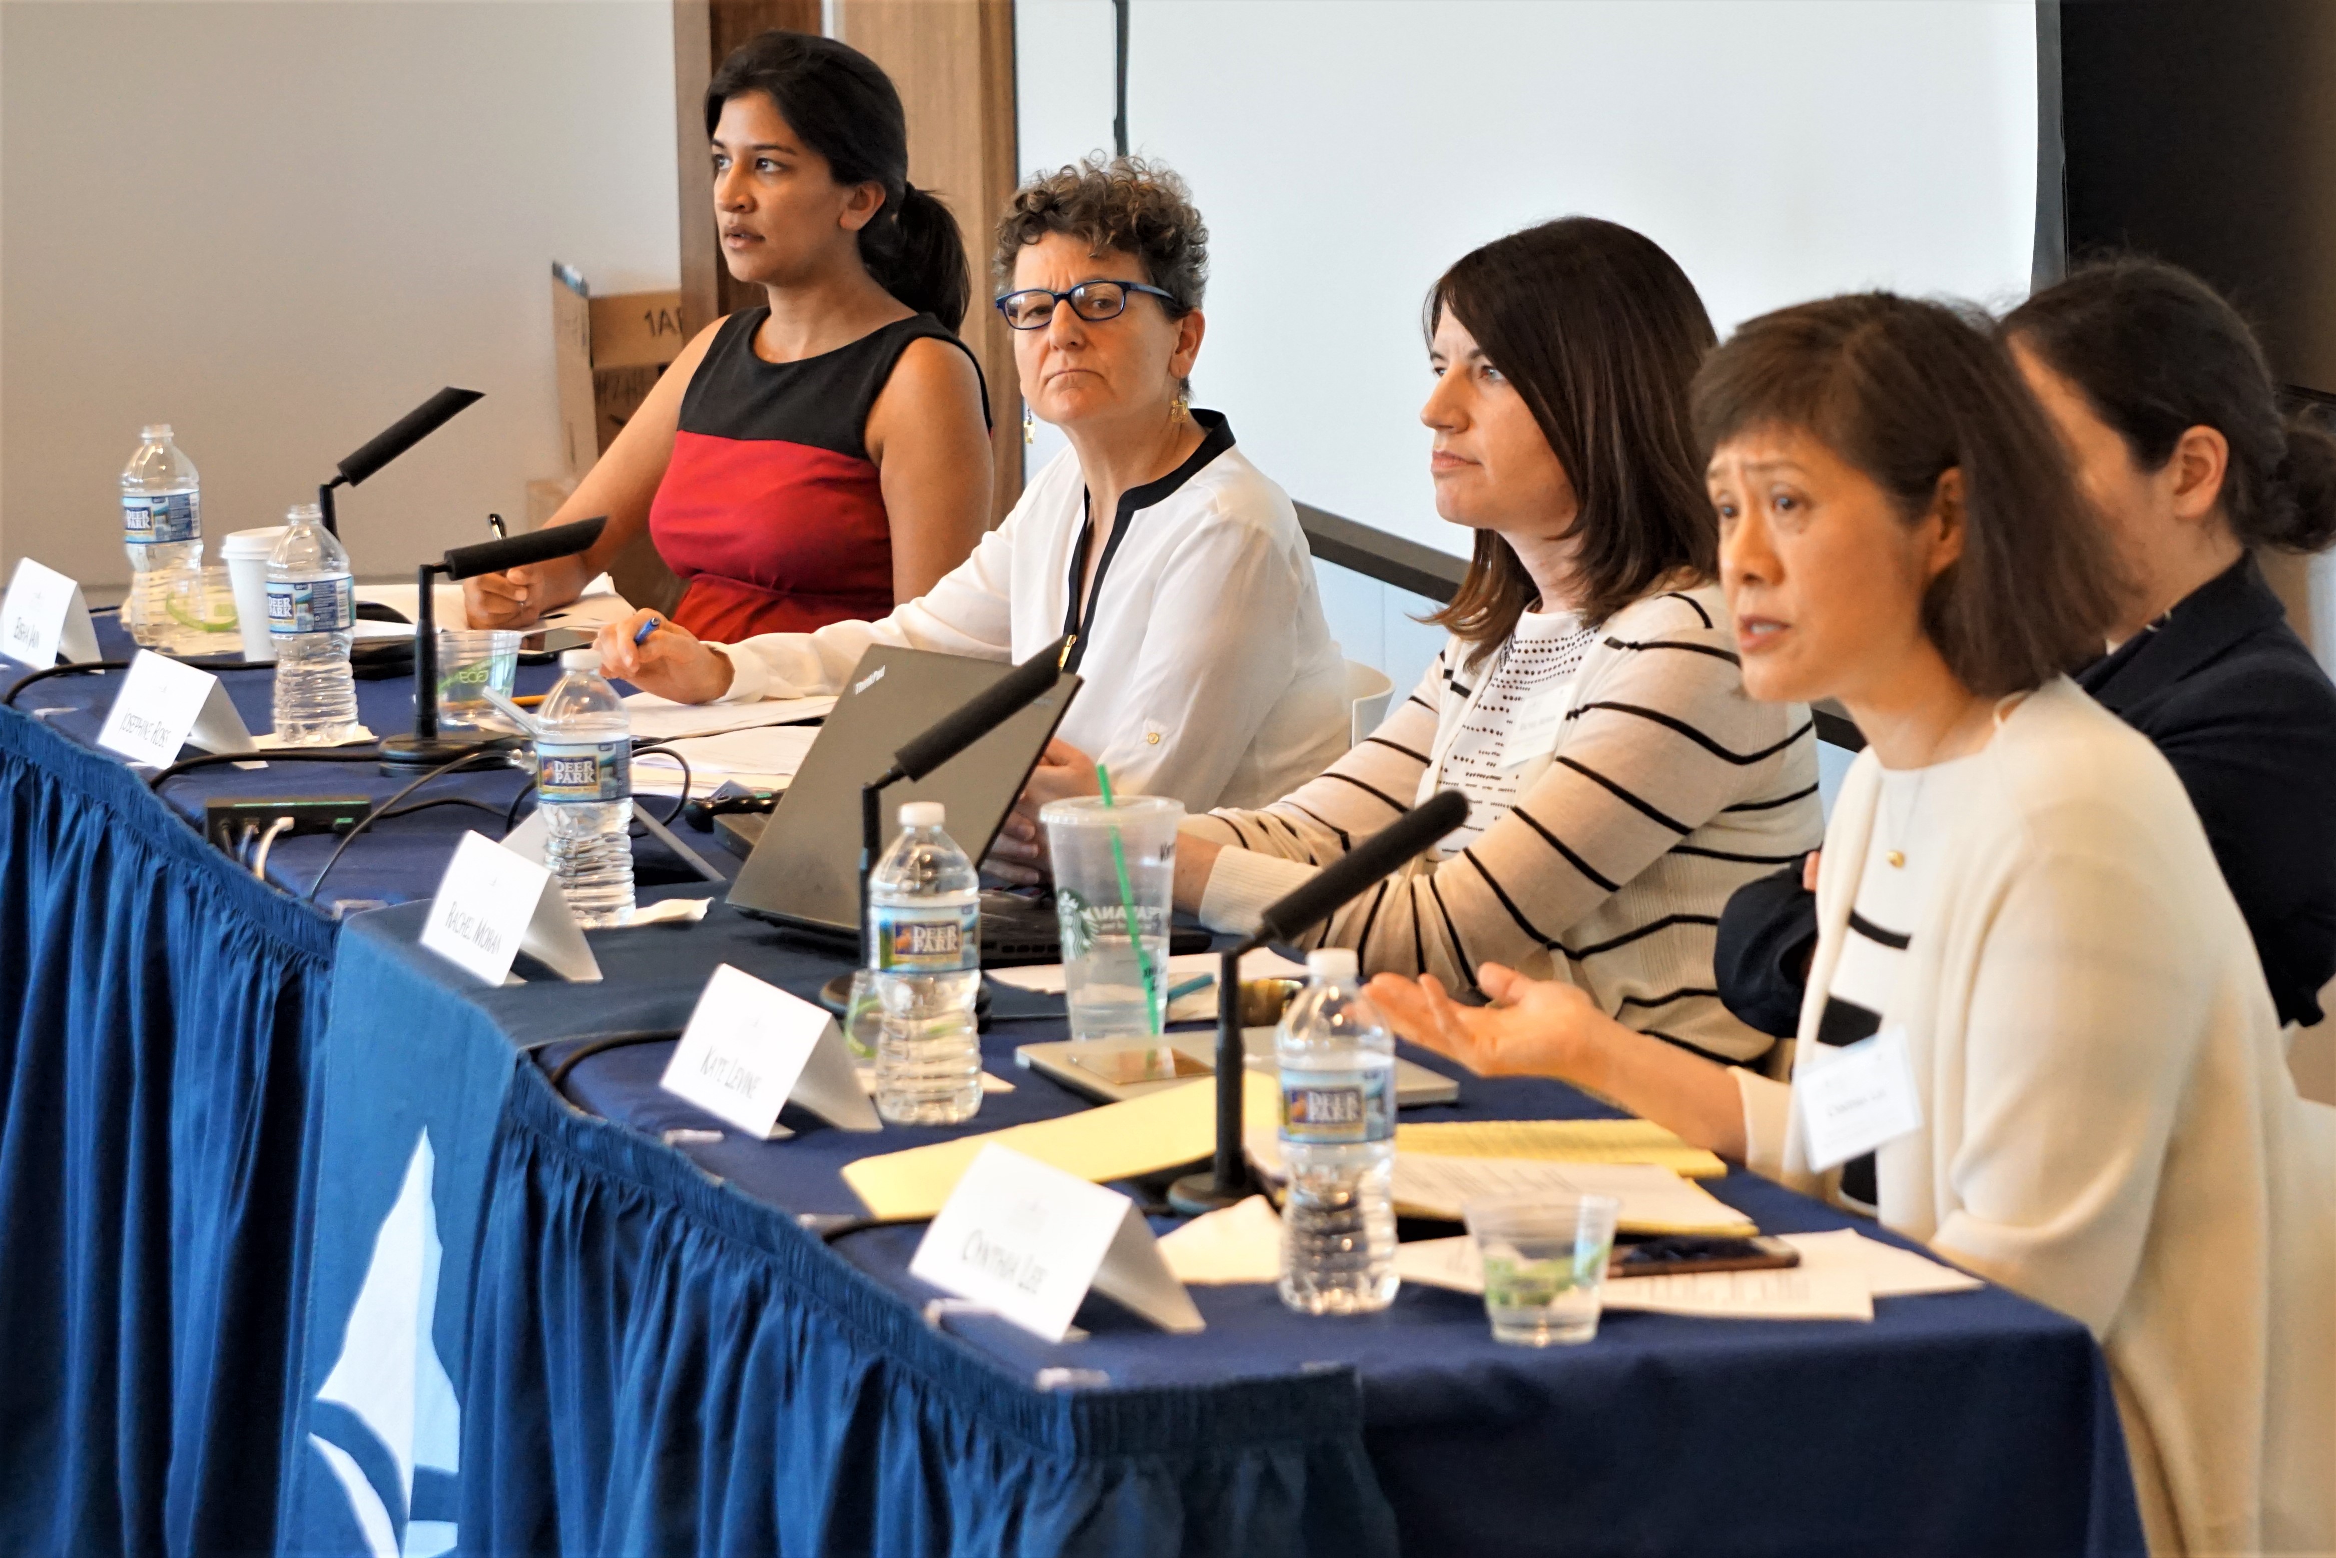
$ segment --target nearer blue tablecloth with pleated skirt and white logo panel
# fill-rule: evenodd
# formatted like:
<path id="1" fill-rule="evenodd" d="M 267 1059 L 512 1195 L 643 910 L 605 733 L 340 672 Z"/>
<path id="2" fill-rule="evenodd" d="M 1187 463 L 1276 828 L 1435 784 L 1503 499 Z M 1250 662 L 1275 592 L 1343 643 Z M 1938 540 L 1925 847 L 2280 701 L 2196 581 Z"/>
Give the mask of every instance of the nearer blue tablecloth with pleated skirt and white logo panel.
<path id="1" fill-rule="evenodd" d="M 1205 1287 L 1203 1336 L 1100 1299 L 1061 1348 L 934 1331 L 916 1229 L 827 1247 L 792 1215 L 857 1210 L 846 1161 L 946 1133 L 790 1112 L 794 1140 L 670 1149 L 715 1128 L 654 1086 L 670 1044 L 584 1060 L 582 1110 L 537 1065 L 677 1028 L 719 962 L 808 995 L 836 960 L 717 906 L 593 934 L 607 986 L 474 990 L 416 932 L 413 909 L 364 916 L 336 972 L 297 1551 L 367 1523 L 479 1553 L 2140 1551 L 2098 1348 L 2002 1289 L 1885 1299 L 1871 1324 L 1614 1313 L 1551 1352 L 1434 1289 L 1308 1320 Z M 974 1128 L 1079 1107 L 1011 1070 L 1058 1035 L 986 1037 L 1016 1091 Z M 1420 1117 L 1588 1112 L 1467 1079 Z M 1845 1224 L 1745 1175 L 1717 1191 L 1766 1229 Z M 397 1366 L 362 1383 L 369 1357 Z M 1042 1390 L 1061 1369 L 1075 1387 Z"/>

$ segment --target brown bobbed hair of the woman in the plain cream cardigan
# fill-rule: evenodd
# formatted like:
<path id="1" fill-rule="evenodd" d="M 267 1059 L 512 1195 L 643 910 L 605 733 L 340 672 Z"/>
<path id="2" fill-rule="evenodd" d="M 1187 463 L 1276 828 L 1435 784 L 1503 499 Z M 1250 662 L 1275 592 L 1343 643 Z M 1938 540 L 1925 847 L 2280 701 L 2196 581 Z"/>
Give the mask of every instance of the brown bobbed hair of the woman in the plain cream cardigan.
<path id="1" fill-rule="evenodd" d="M 2100 656 L 2116 563 L 2067 455 L 1983 313 L 1890 292 L 1764 313 L 1703 364 L 1705 451 L 1789 427 L 1855 465 L 1916 523 L 1962 472 L 1962 556 L 1923 596 L 1923 631 L 1979 696 Z"/>

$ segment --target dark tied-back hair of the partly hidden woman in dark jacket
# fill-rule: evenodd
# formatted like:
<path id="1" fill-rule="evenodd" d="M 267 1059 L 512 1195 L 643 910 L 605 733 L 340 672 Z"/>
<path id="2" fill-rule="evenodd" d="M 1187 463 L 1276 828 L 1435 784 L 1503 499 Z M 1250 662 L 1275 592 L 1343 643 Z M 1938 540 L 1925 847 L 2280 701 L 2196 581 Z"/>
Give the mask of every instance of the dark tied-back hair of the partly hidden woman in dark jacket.
<path id="1" fill-rule="evenodd" d="M 2219 292 L 2161 259 L 2074 271 L 2004 315 L 2004 336 L 2067 378 L 2135 462 L 2158 470 L 2191 427 L 2231 446 L 2222 509 L 2243 547 L 2336 542 L 2336 437 L 2280 416 L 2264 348 Z"/>

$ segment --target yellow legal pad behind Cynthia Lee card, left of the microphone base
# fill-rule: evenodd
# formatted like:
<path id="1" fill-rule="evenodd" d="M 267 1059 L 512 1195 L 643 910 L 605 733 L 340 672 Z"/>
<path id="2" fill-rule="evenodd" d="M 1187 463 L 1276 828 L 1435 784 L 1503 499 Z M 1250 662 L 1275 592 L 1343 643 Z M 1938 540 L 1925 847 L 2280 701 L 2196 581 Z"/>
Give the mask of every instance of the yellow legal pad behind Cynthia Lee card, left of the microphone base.
<path id="1" fill-rule="evenodd" d="M 1273 1077 L 1261 1072 L 1243 1077 L 1247 1088 L 1243 1119 L 1278 1119 L 1282 1096 Z M 843 1168 L 843 1182 L 867 1203 L 871 1217 L 932 1217 L 986 1142 L 1011 1147 L 1096 1184 L 1159 1173 L 1217 1149 L 1217 1084 L 1187 1081 L 1100 1110 L 860 1159 Z"/>

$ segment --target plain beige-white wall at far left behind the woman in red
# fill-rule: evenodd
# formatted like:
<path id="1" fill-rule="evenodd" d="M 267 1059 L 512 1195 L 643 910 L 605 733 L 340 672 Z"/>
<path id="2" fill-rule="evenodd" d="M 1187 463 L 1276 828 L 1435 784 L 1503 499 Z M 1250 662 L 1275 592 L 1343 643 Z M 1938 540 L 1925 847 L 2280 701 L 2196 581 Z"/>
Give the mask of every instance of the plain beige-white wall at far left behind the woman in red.
<path id="1" fill-rule="evenodd" d="M 561 467 L 549 264 L 677 276 L 666 0 L 0 5 L 0 551 L 124 577 L 168 420 L 203 530 L 276 523 L 444 383 L 486 399 L 355 493 L 360 575 Z"/>

